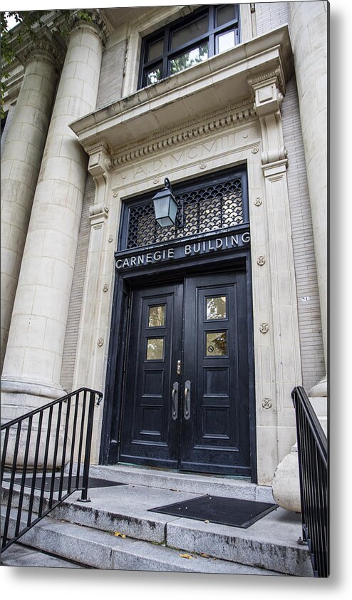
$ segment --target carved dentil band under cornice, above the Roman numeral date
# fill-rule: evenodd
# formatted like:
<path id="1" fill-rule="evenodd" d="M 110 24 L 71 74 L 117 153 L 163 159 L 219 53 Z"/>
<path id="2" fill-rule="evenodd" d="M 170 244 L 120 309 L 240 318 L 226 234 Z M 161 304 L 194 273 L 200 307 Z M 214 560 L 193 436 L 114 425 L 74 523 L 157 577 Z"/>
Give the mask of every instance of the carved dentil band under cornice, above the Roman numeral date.
<path id="1" fill-rule="evenodd" d="M 155 154 L 155 152 L 165 150 L 165 148 L 175 147 L 187 142 L 187 140 L 199 140 L 203 136 L 209 135 L 209 133 L 233 127 L 254 117 L 255 111 L 250 100 L 232 103 L 218 110 L 212 110 L 212 112 L 199 118 L 189 120 L 187 123 L 182 123 L 182 128 L 180 128 L 180 124 L 174 125 L 151 135 L 149 138 L 143 138 L 138 143 L 115 149 L 113 151 L 113 165 L 123 165 L 125 162 Z M 86 151 L 88 150 L 86 149 Z"/>

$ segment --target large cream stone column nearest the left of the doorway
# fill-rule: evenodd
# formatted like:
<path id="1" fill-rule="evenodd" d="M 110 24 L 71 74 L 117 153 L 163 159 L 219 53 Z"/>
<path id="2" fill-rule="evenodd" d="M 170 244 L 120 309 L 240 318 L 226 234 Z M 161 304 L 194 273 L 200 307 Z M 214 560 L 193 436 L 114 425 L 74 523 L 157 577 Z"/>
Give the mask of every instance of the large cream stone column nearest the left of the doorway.
<path id="1" fill-rule="evenodd" d="M 97 22 L 95 22 L 97 21 Z M 87 156 L 69 123 L 95 110 L 103 23 L 76 21 L 48 130 L 1 377 L 3 417 L 63 395 L 63 342 Z"/>

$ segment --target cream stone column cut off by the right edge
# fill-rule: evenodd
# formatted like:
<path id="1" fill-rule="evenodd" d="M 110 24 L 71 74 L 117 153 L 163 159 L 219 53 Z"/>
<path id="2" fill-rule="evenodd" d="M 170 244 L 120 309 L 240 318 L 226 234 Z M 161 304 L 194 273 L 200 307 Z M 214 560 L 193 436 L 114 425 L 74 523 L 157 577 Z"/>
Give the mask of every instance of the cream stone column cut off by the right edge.
<path id="1" fill-rule="evenodd" d="M 304 153 L 314 231 L 321 326 L 327 355 L 327 26 L 325 1 L 289 2 Z M 326 396 L 326 378 L 314 395 Z"/>

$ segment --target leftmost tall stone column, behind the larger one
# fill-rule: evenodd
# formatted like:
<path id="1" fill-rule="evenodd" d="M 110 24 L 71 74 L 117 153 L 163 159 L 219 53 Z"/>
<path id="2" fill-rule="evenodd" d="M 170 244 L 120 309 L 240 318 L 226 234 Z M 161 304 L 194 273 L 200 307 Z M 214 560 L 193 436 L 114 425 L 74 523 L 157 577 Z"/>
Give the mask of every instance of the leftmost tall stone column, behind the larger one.
<path id="1" fill-rule="evenodd" d="M 1 157 L 1 368 L 34 192 L 53 108 L 61 52 L 39 39 L 26 48 L 24 80 Z"/>

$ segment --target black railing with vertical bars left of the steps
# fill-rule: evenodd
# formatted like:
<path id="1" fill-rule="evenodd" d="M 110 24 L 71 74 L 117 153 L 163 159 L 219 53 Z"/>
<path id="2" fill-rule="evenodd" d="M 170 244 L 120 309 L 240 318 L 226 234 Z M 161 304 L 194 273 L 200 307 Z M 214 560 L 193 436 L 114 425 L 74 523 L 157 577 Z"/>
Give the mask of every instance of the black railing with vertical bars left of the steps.
<path id="1" fill-rule="evenodd" d="M 78 404 L 80 393 L 83 392 L 83 409 L 81 415 L 81 422 L 78 420 Z M 88 415 L 85 410 L 86 407 L 86 398 L 89 395 L 89 406 L 88 406 Z M 71 399 L 76 398 L 76 406 L 73 416 L 73 423 L 70 420 L 70 408 L 71 408 Z M 24 535 L 33 525 L 38 523 L 43 517 L 46 517 L 49 512 L 51 512 L 54 508 L 58 507 L 62 504 L 66 498 L 68 498 L 73 492 L 78 492 L 82 490 L 81 502 L 90 502 L 88 499 L 88 485 L 89 485 L 89 463 L 90 463 L 90 450 L 92 445 L 92 435 L 93 435 L 93 419 L 94 419 L 94 406 L 95 406 L 95 398 L 98 397 L 96 405 L 100 404 L 100 400 L 103 398 L 103 393 L 91 390 L 88 388 L 80 388 L 79 390 L 75 390 L 63 398 L 58 398 L 57 400 L 53 400 L 52 402 L 46 404 L 45 406 L 41 406 L 40 408 L 36 408 L 35 410 L 31 410 L 31 412 L 26 413 L 25 415 L 21 415 L 21 417 L 12 419 L 8 423 L 4 423 L 1 425 L 1 445 L 2 445 L 2 457 L 1 457 L 1 484 L 4 481 L 4 472 L 8 468 L 9 469 L 9 478 L 6 478 L 6 490 L 5 497 L 7 496 L 6 502 L 6 516 L 4 518 L 4 522 L 1 519 L 1 536 L 2 536 L 2 544 L 1 544 L 1 553 L 4 552 L 7 548 L 14 544 L 22 535 Z M 63 448 L 62 448 L 62 457 L 61 457 L 61 475 L 59 477 L 59 486 L 58 490 L 56 488 L 56 461 L 58 457 L 58 448 L 60 444 L 61 438 L 61 411 L 63 407 L 63 403 L 68 403 L 68 410 L 66 413 L 66 418 L 64 422 L 64 430 L 63 430 Z M 58 407 L 57 413 L 57 421 L 56 427 L 51 428 L 51 420 L 53 415 L 54 408 Z M 39 453 L 41 447 L 41 432 L 42 432 L 42 424 L 43 417 L 48 413 L 48 424 L 45 438 L 45 448 L 44 455 L 41 457 L 40 461 L 43 462 L 41 478 L 37 478 L 37 471 L 39 466 Z M 31 430 L 33 424 L 33 418 L 38 417 L 37 424 L 37 433 L 36 440 L 33 440 L 35 444 L 35 452 L 33 457 L 33 471 L 29 472 L 28 470 L 28 457 L 29 450 L 31 446 Z M 27 427 L 25 426 L 28 423 Z M 66 445 L 68 441 L 68 430 L 71 425 L 73 425 L 73 433 L 71 440 L 71 452 L 70 452 L 70 468 L 68 472 L 68 477 L 64 476 L 64 467 L 65 467 L 65 457 L 66 457 Z M 24 427 L 22 427 L 24 425 Z M 79 429 L 79 432 L 77 430 Z M 14 448 L 11 448 L 11 459 L 9 459 L 9 440 L 11 439 L 11 433 L 13 433 L 11 441 Z M 26 432 L 26 440 L 24 440 L 24 456 L 23 463 L 18 464 L 18 455 L 19 455 L 19 445 L 20 445 L 20 436 L 21 432 Z M 4 433 L 4 438 L 3 438 Z M 78 435 L 76 435 L 78 433 Z M 86 435 L 85 435 L 86 433 Z M 77 475 L 75 478 L 76 485 L 71 487 L 71 479 L 72 479 L 72 466 L 73 466 L 73 456 L 76 449 L 76 438 L 78 440 L 78 467 L 77 467 Z M 85 440 L 85 443 L 84 443 Z M 83 450 L 84 446 L 84 450 Z M 53 448 L 53 464 L 52 464 L 52 472 L 51 475 L 47 478 L 46 472 L 48 468 L 48 453 L 49 448 Z M 79 467 L 81 462 L 81 450 L 84 452 L 84 463 L 83 463 L 83 477 L 82 477 L 82 485 L 81 485 L 81 477 L 79 474 Z M 22 458 L 21 458 L 22 460 Z M 6 465 L 9 467 L 6 467 Z M 20 467 L 21 475 L 19 473 Z M 30 477 L 27 477 L 30 475 Z M 67 486 L 65 487 L 65 492 L 63 492 L 63 481 L 67 479 Z M 28 482 L 31 480 L 31 483 Z M 48 481 L 50 484 L 50 490 L 47 489 Z M 36 486 L 40 484 L 39 495 L 35 495 Z M 14 487 L 16 486 L 16 489 Z M 26 509 L 26 514 L 24 514 L 24 488 L 29 487 L 29 492 L 26 492 L 29 495 L 29 507 Z M 19 489 L 18 489 L 19 488 Z M 44 498 L 44 493 L 49 491 L 49 499 L 48 502 L 46 498 Z M 58 497 L 54 497 L 54 493 L 58 492 Z M 13 496 L 19 495 L 19 500 L 16 505 L 16 500 L 13 502 Z M 33 510 L 34 502 L 38 500 L 38 508 L 36 508 L 35 513 Z M 16 510 L 17 507 L 17 510 Z M 13 510 L 14 509 L 14 510 Z M 15 514 L 16 517 L 12 517 L 12 513 Z M 33 515 L 33 517 L 32 517 Z M 11 519 L 15 519 L 14 523 L 14 534 L 9 534 L 9 526 L 11 526 Z M 26 519 L 26 524 L 21 524 L 22 519 Z"/>

